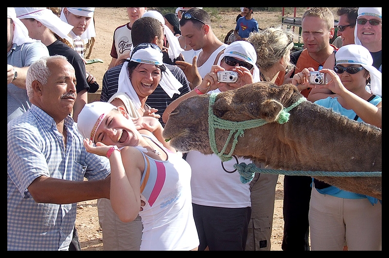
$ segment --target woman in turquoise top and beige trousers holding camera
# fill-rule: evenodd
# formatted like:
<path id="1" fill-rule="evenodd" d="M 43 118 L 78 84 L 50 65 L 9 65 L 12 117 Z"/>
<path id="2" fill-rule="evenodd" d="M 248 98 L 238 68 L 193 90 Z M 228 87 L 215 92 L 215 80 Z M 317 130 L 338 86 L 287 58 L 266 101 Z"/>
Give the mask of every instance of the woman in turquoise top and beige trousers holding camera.
<path id="1" fill-rule="evenodd" d="M 382 79 L 372 62 L 369 51 L 361 45 L 341 47 L 336 52 L 334 70 L 320 70 L 328 77 L 328 84 L 310 85 L 329 89 L 336 95 L 315 103 L 381 128 Z M 309 71 L 313 69 L 295 74 L 292 83 L 307 84 Z M 366 91 L 369 79 L 371 92 Z M 345 241 L 348 250 L 382 250 L 381 200 L 340 190 L 315 179 L 309 225 L 312 250 L 341 251 Z"/>

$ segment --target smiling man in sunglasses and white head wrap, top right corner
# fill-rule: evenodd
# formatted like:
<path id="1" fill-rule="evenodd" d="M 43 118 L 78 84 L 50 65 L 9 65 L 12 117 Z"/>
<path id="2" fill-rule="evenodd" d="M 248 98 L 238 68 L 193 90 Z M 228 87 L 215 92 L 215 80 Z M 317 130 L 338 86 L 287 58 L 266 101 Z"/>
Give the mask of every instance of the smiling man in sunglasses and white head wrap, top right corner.
<path id="1" fill-rule="evenodd" d="M 359 7 L 355 44 L 370 51 L 373 66 L 382 73 L 382 7 Z"/>

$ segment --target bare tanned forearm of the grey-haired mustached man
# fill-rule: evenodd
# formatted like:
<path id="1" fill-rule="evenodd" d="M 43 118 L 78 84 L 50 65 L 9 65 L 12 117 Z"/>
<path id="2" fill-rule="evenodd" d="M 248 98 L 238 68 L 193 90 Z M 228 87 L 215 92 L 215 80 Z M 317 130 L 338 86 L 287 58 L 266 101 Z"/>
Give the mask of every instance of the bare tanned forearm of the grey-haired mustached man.
<path id="1" fill-rule="evenodd" d="M 30 184 L 28 191 L 36 203 L 78 203 L 109 199 L 110 182 L 110 175 L 104 180 L 80 182 L 40 176 Z"/>

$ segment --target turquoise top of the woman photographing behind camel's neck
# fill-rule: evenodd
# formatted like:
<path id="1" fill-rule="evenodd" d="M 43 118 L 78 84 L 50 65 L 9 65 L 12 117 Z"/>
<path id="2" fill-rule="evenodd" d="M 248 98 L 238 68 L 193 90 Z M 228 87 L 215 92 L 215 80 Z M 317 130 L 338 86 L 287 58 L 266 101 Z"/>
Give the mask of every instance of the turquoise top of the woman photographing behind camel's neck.
<path id="1" fill-rule="evenodd" d="M 319 100 L 315 101 L 315 104 L 318 104 L 318 105 L 323 106 L 325 108 L 330 108 L 333 111 L 340 113 L 342 115 L 345 115 L 348 118 L 354 120 L 356 113 L 353 110 L 348 110 L 348 109 L 343 108 L 342 105 L 339 104 L 337 99 L 338 99 L 337 97 L 335 97 L 335 98 L 327 97 L 325 99 L 319 99 Z M 377 106 L 381 101 L 382 101 L 381 97 L 375 96 L 370 101 L 370 103 L 373 104 L 374 106 Z M 363 122 L 360 117 L 358 117 L 358 119 L 356 121 Z M 371 204 L 377 203 L 377 201 L 378 201 L 377 198 L 373 198 L 373 197 L 366 196 L 363 194 L 357 194 L 357 193 L 341 190 L 335 186 L 329 186 L 329 187 L 326 187 L 323 189 L 316 189 L 316 190 L 318 190 L 318 192 L 321 194 L 328 194 L 331 196 L 345 198 L 345 199 L 364 199 L 364 198 L 367 198 L 367 199 L 369 199 Z"/>

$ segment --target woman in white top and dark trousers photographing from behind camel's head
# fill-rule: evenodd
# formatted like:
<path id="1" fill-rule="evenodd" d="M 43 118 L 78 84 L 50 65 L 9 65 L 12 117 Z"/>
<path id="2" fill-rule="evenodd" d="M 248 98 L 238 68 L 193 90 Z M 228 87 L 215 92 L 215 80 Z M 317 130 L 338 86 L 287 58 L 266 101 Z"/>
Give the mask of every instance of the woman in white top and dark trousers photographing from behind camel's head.
<path id="1" fill-rule="evenodd" d="M 255 49 L 250 43 L 231 43 L 220 56 L 217 65 L 213 65 L 210 73 L 204 76 L 202 83 L 173 101 L 162 119 L 166 121 L 166 112 L 170 113 L 179 102 L 190 96 L 224 92 L 258 82 L 256 60 Z M 186 161 L 192 168 L 193 216 L 200 240 L 198 250 L 245 250 L 251 215 L 249 184 L 242 184 L 239 173 L 227 173 L 216 154 L 204 155 L 190 151 Z M 232 171 L 236 162 L 233 159 L 224 162 L 223 166 Z M 241 162 L 251 163 L 250 160 L 239 158 L 238 163 Z"/>

